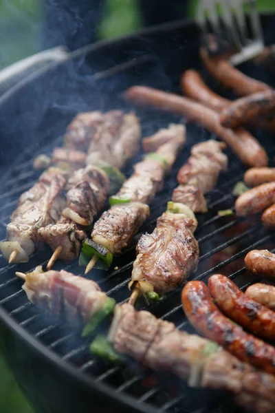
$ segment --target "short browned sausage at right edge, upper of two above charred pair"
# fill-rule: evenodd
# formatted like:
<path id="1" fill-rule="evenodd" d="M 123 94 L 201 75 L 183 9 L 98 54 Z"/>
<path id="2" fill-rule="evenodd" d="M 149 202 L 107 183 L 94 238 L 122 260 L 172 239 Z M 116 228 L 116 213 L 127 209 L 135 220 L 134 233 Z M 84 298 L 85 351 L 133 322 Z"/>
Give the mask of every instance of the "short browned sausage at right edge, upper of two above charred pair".
<path id="1" fill-rule="evenodd" d="M 263 279 L 275 279 L 275 254 L 267 250 L 252 250 L 245 256 L 245 266 Z"/>

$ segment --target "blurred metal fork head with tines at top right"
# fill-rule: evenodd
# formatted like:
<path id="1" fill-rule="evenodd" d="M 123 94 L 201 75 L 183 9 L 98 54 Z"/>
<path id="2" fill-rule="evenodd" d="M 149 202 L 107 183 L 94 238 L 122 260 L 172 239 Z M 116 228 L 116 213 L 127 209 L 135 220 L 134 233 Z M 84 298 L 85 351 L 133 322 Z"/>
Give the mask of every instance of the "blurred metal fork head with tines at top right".
<path id="1" fill-rule="evenodd" d="M 210 54 L 236 51 L 230 57 L 233 65 L 263 52 L 256 0 L 199 0 L 196 21 L 201 28 L 203 46 Z"/>

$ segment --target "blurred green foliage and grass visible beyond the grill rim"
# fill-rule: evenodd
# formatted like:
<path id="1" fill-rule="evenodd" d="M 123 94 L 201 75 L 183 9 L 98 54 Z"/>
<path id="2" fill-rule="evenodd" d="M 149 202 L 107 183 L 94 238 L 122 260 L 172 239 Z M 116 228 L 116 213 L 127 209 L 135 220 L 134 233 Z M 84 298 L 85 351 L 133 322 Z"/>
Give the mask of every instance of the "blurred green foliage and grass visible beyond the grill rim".
<path id="1" fill-rule="evenodd" d="M 258 3 L 260 10 L 275 10 L 274 0 L 259 0 Z M 190 16 L 194 14 L 196 4 L 197 0 L 190 0 Z M 40 1 L 0 0 L 0 69 L 36 52 L 41 21 Z M 101 38 L 127 34 L 139 27 L 140 14 L 136 0 L 106 1 L 104 19 L 99 28 Z M 1 354 L 0 412 L 32 413 Z"/>

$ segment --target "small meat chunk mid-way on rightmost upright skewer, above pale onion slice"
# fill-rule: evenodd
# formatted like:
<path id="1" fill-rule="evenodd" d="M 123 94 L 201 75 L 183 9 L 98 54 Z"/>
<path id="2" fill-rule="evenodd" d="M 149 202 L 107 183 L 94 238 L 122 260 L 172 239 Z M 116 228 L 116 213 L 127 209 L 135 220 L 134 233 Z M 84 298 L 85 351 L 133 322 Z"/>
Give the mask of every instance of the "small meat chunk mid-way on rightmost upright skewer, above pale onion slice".
<path id="1" fill-rule="evenodd" d="M 187 205 L 194 213 L 207 212 L 206 199 L 201 190 L 194 185 L 179 185 L 173 191 L 172 200 Z"/>

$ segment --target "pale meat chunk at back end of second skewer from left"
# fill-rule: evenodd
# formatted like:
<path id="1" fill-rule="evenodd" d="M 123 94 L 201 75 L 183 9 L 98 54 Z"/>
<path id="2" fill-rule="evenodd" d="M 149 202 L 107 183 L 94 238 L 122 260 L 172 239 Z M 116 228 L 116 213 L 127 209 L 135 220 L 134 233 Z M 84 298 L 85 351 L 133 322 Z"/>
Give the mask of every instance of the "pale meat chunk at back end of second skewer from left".
<path id="1" fill-rule="evenodd" d="M 98 160 L 103 160 L 120 169 L 137 153 L 140 133 L 140 123 L 135 115 L 108 112 L 104 124 L 89 145 L 87 165 L 96 165 Z"/>

